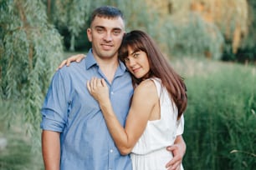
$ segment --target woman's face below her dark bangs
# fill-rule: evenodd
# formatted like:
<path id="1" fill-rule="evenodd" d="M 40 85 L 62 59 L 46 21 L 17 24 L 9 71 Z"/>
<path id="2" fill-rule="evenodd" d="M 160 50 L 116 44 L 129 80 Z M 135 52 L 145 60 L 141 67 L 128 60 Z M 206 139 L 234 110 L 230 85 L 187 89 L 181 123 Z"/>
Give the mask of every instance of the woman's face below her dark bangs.
<path id="1" fill-rule="evenodd" d="M 147 73 L 150 71 L 150 64 L 146 52 L 135 52 L 129 46 L 128 57 L 125 57 L 125 65 L 136 78 L 146 77 Z"/>

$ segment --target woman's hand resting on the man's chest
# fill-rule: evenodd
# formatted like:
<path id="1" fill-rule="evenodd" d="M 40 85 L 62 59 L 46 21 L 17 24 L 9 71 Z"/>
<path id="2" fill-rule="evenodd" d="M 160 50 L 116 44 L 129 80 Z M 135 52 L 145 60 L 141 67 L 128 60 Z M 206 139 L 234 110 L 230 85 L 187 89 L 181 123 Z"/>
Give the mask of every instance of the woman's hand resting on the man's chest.
<path id="1" fill-rule="evenodd" d="M 109 100 L 109 87 L 103 78 L 93 77 L 87 82 L 87 88 L 90 94 L 97 100 L 100 105 Z"/>

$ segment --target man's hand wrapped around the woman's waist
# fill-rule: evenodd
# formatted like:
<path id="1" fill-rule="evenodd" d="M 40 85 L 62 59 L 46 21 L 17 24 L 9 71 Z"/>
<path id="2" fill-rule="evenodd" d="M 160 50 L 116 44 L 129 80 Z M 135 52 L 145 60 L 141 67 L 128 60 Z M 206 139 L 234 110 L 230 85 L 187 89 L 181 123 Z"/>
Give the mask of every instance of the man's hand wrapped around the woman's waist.
<path id="1" fill-rule="evenodd" d="M 178 135 L 174 144 L 170 147 L 167 147 L 167 150 L 172 152 L 172 160 L 166 164 L 168 170 L 177 170 L 182 164 L 182 158 L 186 153 L 186 143 L 184 142 L 182 135 Z"/>

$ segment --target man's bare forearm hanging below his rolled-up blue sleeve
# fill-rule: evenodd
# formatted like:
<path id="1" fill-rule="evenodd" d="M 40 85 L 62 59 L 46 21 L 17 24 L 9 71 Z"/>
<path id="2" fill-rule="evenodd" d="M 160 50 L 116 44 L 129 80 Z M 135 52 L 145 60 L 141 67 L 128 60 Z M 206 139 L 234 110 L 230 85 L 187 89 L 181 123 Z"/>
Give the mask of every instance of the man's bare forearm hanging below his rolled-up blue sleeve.
<path id="1" fill-rule="evenodd" d="M 45 170 L 59 170 L 60 140 L 58 132 L 43 130 L 42 153 Z"/>

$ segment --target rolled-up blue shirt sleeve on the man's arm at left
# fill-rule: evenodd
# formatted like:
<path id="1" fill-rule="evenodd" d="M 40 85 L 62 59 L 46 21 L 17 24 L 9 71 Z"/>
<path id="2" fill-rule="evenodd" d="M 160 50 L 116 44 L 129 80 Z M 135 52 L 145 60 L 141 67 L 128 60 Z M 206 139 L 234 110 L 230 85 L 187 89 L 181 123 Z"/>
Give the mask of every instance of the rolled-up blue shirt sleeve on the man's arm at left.
<path id="1" fill-rule="evenodd" d="M 67 87 L 61 72 L 56 72 L 41 109 L 42 122 L 40 128 L 60 133 L 63 132 L 69 107 L 69 101 L 66 95 L 69 92 Z"/>

